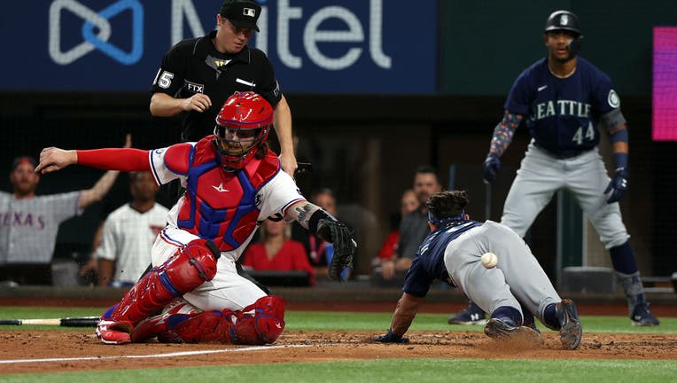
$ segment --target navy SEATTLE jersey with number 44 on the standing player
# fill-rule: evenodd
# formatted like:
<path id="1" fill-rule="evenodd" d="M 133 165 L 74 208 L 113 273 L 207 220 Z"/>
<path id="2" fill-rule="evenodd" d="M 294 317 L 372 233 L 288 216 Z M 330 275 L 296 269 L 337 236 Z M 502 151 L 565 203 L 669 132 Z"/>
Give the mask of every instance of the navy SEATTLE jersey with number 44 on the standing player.
<path id="1" fill-rule="evenodd" d="M 536 61 L 517 77 L 505 102 L 508 112 L 525 116 L 535 145 L 565 157 L 595 148 L 600 116 L 619 106 L 611 78 L 580 57 L 565 79 L 550 73 L 547 58 Z"/>

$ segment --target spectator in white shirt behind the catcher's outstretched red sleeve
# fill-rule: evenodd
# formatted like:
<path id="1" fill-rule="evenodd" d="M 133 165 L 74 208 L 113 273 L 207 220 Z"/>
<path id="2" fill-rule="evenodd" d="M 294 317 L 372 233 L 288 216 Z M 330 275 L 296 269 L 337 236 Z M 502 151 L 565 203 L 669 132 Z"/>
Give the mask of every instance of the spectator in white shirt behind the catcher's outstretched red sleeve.
<path id="1" fill-rule="evenodd" d="M 132 200 L 108 215 L 97 247 L 98 285 L 132 286 L 151 264 L 151 247 L 167 222 L 155 202 L 158 185 L 147 172 L 129 174 Z"/>

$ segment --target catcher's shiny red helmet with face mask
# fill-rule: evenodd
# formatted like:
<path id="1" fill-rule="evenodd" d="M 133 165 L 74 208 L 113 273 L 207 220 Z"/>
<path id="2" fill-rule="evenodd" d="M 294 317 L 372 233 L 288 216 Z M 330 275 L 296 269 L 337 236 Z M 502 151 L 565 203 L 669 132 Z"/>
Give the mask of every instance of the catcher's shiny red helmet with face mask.
<path id="1" fill-rule="evenodd" d="M 244 168 L 264 145 L 273 124 L 273 108 L 260 95 L 235 92 L 216 115 L 216 146 L 226 170 Z"/>

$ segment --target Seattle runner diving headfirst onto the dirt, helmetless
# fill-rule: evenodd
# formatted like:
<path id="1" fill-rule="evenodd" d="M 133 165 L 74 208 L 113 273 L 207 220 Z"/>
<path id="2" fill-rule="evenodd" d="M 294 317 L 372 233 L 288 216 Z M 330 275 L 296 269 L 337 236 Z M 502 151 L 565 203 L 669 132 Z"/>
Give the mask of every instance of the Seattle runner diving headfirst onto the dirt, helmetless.
<path id="1" fill-rule="evenodd" d="M 465 191 L 441 191 L 426 202 L 431 233 L 419 247 L 407 273 L 391 327 L 374 340 L 407 342 L 402 338 L 436 279 L 456 285 L 480 308 L 491 313 L 484 332 L 496 340 L 527 340 L 540 344 L 532 312 L 549 329 L 558 330 L 562 347 L 579 347 L 583 327 L 576 305 L 562 300 L 515 231 L 465 214 Z M 483 266 L 486 253 L 497 255 L 496 265 Z M 523 307 L 525 309 L 523 309 Z M 526 311 L 525 311 L 526 310 Z"/>

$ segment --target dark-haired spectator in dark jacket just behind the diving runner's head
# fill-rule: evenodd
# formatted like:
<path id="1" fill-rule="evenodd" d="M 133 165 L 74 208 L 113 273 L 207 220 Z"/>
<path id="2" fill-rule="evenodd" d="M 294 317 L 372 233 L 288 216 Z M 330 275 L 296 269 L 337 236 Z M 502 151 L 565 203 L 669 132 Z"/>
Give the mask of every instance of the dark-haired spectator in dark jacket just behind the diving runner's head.
<path id="1" fill-rule="evenodd" d="M 414 259 L 418 246 L 428 235 L 428 209 L 425 201 L 432 194 L 442 190 L 440 179 L 435 169 L 430 166 L 421 166 L 414 174 L 414 192 L 419 206 L 416 210 L 402 218 L 400 224 L 400 240 L 397 251 L 389 260 L 381 262 L 381 273 L 384 279 L 391 279 L 395 273 L 404 273 L 409 270 L 411 260 Z"/>

